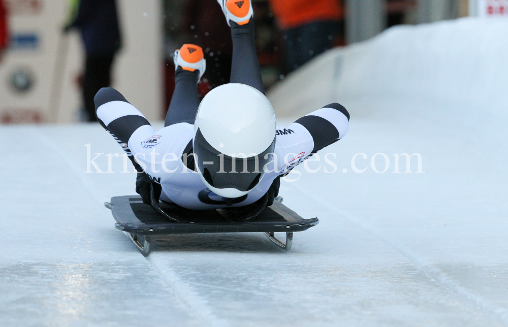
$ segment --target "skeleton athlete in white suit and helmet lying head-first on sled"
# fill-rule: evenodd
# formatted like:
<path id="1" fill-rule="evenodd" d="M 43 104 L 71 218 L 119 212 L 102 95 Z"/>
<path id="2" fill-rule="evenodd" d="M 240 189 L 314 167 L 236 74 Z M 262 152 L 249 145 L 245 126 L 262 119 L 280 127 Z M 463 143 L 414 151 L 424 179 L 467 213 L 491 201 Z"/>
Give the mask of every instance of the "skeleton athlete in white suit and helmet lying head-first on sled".
<path id="1" fill-rule="evenodd" d="M 231 83 L 200 103 L 203 50 L 184 44 L 174 55 L 175 91 L 164 128 L 155 131 L 113 88 L 95 96 L 97 118 L 136 167 L 136 191 L 146 204 L 153 196 L 192 210 L 259 211 L 273 203 L 282 175 L 347 133 L 350 115 L 337 103 L 276 126 L 264 95 L 251 0 L 218 2 L 233 38 Z"/>

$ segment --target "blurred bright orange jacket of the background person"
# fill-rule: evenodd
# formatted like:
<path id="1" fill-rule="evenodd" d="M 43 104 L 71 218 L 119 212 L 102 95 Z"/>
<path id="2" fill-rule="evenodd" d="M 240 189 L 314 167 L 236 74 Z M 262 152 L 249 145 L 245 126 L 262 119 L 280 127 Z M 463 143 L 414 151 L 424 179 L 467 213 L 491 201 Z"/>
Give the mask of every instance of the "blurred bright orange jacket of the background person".
<path id="1" fill-rule="evenodd" d="M 340 0 L 269 0 L 281 29 L 318 20 L 339 20 L 344 11 Z"/>

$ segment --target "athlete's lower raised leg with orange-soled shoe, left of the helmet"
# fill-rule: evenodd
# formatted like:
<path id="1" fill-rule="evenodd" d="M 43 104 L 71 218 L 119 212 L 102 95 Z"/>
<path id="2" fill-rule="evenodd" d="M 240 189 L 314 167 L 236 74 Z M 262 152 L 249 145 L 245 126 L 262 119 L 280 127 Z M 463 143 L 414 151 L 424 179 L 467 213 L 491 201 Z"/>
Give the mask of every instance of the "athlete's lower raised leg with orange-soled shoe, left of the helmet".
<path id="1" fill-rule="evenodd" d="M 180 122 L 194 124 L 199 107 L 197 84 L 206 69 L 203 57 L 201 47 L 192 44 L 184 44 L 175 51 L 175 91 L 164 126 Z"/>

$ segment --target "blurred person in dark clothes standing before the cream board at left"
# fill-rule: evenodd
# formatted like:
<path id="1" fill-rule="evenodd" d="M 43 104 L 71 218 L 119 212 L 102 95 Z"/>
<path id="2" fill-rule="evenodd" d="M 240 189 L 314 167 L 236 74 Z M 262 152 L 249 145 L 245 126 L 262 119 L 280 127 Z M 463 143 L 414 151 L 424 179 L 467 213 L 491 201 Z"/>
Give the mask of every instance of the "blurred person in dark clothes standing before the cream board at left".
<path id="1" fill-rule="evenodd" d="M 111 86 L 111 67 L 121 47 L 115 0 L 71 0 L 71 19 L 64 31 L 79 29 L 86 52 L 83 101 L 88 121 L 97 121 L 93 97 Z"/>

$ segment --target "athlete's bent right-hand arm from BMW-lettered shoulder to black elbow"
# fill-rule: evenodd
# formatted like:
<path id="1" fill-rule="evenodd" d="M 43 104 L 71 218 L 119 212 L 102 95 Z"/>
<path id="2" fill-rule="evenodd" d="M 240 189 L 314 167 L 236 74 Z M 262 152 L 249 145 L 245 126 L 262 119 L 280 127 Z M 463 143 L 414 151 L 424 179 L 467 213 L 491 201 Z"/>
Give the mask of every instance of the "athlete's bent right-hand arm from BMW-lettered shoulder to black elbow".
<path id="1" fill-rule="evenodd" d="M 333 103 L 303 116 L 288 128 L 277 129 L 278 169 L 281 173 L 288 172 L 310 154 L 343 138 L 349 119 L 347 110 Z"/>

